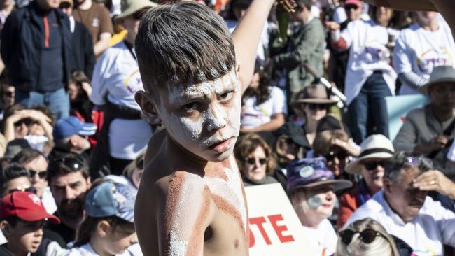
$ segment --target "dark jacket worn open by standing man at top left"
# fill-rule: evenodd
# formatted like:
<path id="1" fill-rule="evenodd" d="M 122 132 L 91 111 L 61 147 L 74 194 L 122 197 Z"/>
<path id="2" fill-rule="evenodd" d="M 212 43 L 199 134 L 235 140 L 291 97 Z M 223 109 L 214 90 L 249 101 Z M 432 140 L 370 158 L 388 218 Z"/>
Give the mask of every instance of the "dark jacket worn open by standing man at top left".
<path id="1" fill-rule="evenodd" d="M 41 49 L 45 31 L 40 25 L 40 10 L 36 3 L 13 11 L 6 19 L 1 32 L 1 58 L 8 69 L 11 83 L 17 90 L 36 91 L 41 63 Z M 73 71 L 73 44 L 69 18 L 62 10 L 54 9 L 62 36 L 62 62 L 64 83 Z"/>

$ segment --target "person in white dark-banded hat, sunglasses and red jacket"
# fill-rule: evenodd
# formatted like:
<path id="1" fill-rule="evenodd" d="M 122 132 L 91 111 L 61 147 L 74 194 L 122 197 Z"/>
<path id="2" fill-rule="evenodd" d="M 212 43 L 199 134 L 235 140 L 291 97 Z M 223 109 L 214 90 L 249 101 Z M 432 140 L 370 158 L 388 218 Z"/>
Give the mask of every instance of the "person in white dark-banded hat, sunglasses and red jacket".
<path id="1" fill-rule="evenodd" d="M 376 192 L 382 189 L 382 178 L 387 160 L 393 156 L 392 142 L 381 134 L 369 136 L 360 145 L 360 155 L 356 161 L 346 166 L 346 172 L 359 174 L 362 179 L 356 188 L 339 198 L 337 227 L 341 229 L 357 208 L 365 204 Z"/>

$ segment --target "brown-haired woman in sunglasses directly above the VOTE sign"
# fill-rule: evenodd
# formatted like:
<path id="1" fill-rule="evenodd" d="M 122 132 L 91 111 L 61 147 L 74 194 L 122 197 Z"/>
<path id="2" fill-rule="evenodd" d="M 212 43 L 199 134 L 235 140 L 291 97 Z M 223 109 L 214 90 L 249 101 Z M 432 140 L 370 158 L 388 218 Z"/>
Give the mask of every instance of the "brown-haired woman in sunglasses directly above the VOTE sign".
<path id="1" fill-rule="evenodd" d="M 235 145 L 235 156 L 246 187 L 277 183 L 273 177 L 276 160 L 269 145 L 257 134 L 242 136 Z"/>

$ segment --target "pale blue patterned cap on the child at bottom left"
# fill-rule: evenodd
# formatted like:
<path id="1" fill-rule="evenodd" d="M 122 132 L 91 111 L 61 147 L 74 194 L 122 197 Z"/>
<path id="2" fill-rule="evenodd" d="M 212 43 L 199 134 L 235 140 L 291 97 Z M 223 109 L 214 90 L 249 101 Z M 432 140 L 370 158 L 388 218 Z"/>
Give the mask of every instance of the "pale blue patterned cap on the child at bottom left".
<path id="1" fill-rule="evenodd" d="M 91 217 L 116 215 L 134 223 L 136 195 L 130 187 L 111 181 L 92 188 L 85 197 L 85 213 Z"/>

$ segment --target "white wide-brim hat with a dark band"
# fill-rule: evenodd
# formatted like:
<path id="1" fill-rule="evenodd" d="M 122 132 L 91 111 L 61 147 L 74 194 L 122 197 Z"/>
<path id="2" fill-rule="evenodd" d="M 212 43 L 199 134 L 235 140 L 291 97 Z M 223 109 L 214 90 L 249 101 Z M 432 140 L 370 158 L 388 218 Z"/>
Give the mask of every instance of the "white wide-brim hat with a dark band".
<path id="1" fill-rule="evenodd" d="M 360 144 L 360 155 L 346 166 L 346 172 L 360 174 L 363 159 L 382 158 L 388 159 L 393 156 L 395 149 L 392 142 L 382 134 L 374 134 Z"/>

